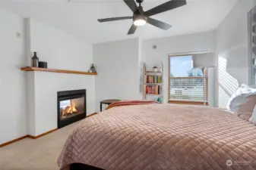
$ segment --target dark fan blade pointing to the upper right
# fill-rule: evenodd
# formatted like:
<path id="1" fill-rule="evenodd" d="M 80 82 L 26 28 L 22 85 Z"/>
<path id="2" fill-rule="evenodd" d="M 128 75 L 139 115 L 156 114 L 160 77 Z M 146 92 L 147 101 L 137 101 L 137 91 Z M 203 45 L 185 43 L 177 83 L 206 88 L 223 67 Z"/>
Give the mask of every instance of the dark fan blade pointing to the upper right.
<path id="1" fill-rule="evenodd" d="M 172 10 L 175 8 L 182 7 L 183 5 L 186 5 L 186 4 L 187 4 L 186 0 L 172 0 L 172 1 L 169 1 L 166 3 L 163 3 L 162 5 L 159 5 L 155 8 L 152 8 L 149 11 L 146 11 L 145 15 L 147 17 L 150 17 L 155 14 L 160 14 L 165 11 L 169 11 L 169 10 Z"/>

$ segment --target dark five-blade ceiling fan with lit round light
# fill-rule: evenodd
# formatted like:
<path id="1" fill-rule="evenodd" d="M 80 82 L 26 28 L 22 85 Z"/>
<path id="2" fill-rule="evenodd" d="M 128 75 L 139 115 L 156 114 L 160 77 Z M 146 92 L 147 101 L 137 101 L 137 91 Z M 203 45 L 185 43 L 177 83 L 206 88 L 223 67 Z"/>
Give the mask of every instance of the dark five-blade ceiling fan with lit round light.
<path id="1" fill-rule="evenodd" d="M 152 8 L 148 11 L 144 11 L 141 3 L 144 2 L 144 0 L 136 0 L 136 2 L 139 4 L 139 6 L 136 5 L 134 0 L 124 0 L 125 4 L 128 5 L 128 7 L 133 11 L 133 16 L 131 17 L 111 17 L 111 18 L 104 18 L 104 19 L 98 19 L 100 23 L 108 22 L 108 21 L 115 21 L 115 20 L 128 20 L 132 19 L 134 20 L 134 23 L 131 25 L 131 28 L 128 31 L 129 34 L 134 34 L 134 32 L 137 29 L 137 26 L 144 26 L 145 23 L 150 23 L 153 26 L 156 26 L 160 29 L 167 30 L 171 25 L 168 23 L 163 23 L 160 20 L 155 20 L 151 18 L 150 16 L 155 14 L 160 14 L 165 11 L 169 11 L 175 8 L 179 8 L 183 5 L 186 5 L 186 0 L 172 0 L 166 3 L 163 3 L 162 5 L 159 5 L 155 8 Z"/>

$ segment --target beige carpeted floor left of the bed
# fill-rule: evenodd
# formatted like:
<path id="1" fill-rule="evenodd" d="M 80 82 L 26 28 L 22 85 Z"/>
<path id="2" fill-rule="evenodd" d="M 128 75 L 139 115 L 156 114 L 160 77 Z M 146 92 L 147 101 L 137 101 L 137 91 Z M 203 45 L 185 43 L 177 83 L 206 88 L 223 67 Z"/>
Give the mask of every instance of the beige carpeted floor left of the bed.
<path id="1" fill-rule="evenodd" d="M 1 170 L 58 170 L 57 159 L 77 123 L 38 139 L 26 138 L 0 148 Z"/>

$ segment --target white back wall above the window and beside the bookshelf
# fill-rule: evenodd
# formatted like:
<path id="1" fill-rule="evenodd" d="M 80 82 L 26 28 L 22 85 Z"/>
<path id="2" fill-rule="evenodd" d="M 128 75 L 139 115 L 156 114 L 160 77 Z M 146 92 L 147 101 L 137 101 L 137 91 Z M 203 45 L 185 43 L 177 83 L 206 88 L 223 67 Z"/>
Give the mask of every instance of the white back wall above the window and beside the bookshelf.
<path id="1" fill-rule="evenodd" d="M 153 45 L 157 48 L 153 49 Z M 175 36 L 163 39 L 149 39 L 142 44 L 141 60 L 147 63 L 148 68 L 160 66 L 163 62 L 164 95 L 163 102 L 168 101 L 168 54 L 188 53 L 198 51 L 213 52 L 213 32 L 201 32 L 186 36 Z"/>

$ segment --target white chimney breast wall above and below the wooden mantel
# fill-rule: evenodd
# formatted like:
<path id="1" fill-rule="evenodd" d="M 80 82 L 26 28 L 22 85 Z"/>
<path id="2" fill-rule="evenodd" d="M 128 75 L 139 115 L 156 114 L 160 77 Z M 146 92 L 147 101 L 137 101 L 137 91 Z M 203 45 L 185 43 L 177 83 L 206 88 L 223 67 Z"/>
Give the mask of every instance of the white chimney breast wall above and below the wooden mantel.
<path id="1" fill-rule="evenodd" d="M 36 20 L 30 20 L 30 44 L 49 68 L 87 71 L 93 63 L 93 45 Z M 35 130 L 29 134 L 57 128 L 57 91 L 87 89 L 87 115 L 95 112 L 95 76 L 43 72 L 33 76 L 34 82 L 28 82 L 34 83 Z"/>

